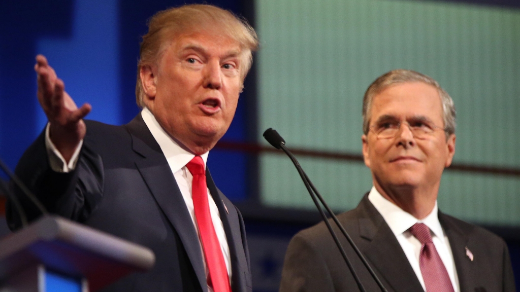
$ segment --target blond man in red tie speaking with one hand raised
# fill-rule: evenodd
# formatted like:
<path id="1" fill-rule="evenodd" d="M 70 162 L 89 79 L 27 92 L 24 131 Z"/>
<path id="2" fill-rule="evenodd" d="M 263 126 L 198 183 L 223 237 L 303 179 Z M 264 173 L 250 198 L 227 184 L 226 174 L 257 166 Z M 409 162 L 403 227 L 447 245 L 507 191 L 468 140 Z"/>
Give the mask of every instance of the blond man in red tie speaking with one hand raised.
<path id="1" fill-rule="evenodd" d="M 151 271 L 105 291 L 251 291 L 242 217 L 205 165 L 235 114 L 256 33 L 227 10 L 186 5 L 154 15 L 142 40 L 142 111 L 123 126 L 83 120 L 90 105 L 77 108 L 36 57 L 49 122 L 16 171 L 51 213 L 153 250 Z M 14 209 L 7 217 L 20 227 Z"/>

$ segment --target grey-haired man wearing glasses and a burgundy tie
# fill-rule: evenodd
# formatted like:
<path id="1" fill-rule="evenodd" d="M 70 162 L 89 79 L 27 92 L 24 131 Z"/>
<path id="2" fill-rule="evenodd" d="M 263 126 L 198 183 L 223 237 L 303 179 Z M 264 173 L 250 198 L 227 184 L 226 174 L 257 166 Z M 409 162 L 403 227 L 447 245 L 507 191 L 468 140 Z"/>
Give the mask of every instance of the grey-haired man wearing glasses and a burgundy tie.
<path id="1" fill-rule="evenodd" d="M 361 140 L 373 187 L 338 217 L 388 291 L 515 291 L 503 240 L 437 209 L 440 178 L 455 153 L 455 125 L 453 100 L 421 73 L 393 70 L 365 93 Z M 365 289 L 379 291 L 340 241 Z M 291 240 L 280 286 L 318 290 L 358 291 L 323 223 Z"/>

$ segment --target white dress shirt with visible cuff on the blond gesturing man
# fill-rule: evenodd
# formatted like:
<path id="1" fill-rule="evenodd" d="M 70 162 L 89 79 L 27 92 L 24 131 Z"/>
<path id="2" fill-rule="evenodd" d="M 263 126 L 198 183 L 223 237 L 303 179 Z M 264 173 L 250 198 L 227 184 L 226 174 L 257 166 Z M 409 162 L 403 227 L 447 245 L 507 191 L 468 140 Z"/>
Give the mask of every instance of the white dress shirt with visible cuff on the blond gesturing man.
<path id="1" fill-rule="evenodd" d="M 175 177 L 175 180 L 177 181 L 177 185 L 179 186 L 180 193 L 183 195 L 184 202 L 186 203 L 186 207 L 188 208 L 188 213 L 191 216 L 191 221 L 193 222 L 193 227 L 197 231 L 197 234 L 199 235 L 199 245 L 201 248 L 202 253 L 202 260 L 204 263 L 204 270 L 206 272 L 206 278 L 208 276 L 208 270 L 207 270 L 207 264 L 205 261 L 204 256 L 204 250 L 202 249 L 202 243 L 199 233 L 199 227 L 196 222 L 195 218 L 195 211 L 193 207 L 193 199 L 191 197 L 191 182 L 193 180 L 193 176 L 191 175 L 191 172 L 186 167 L 186 164 L 190 162 L 195 155 L 188 150 L 184 149 L 179 145 L 179 142 L 174 140 L 170 135 L 166 133 L 166 131 L 159 125 L 157 120 L 155 120 L 155 117 L 153 114 L 145 108 L 141 111 L 142 120 L 145 121 L 146 126 L 152 133 L 153 138 L 159 146 L 161 147 L 161 150 L 166 157 L 166 161 L 168 162 L 168 165 L 170 165 L 170 168 L 172 170 L 172 173 Z M 49 163 L 53 170 L 59 171 L 59 172 L 69 172 L 72 171 L 77 163 L 77 160 L 79 158 L 79 153 L 81 146 L 83 144 L 83 140 L 78 145 L 74 155 L 72 156 L 71 160 L 67 164 L 65 160 L 63 159 L 63 156 L 59 153 L 59 151 L 56 149 L 53 142 L 50 141 L 49 137 L 49 126 L 47 125 L 46 132 L 45 132 L 45 145 L 47 147 L 47 153 L 49 154 Z M 206 152 L 202 155 L 202 160 L 204 161 L 204 165 L 206 165 L 207 162 L 207 155 L 209 152 Z M 213 201 L 213 197 L 210 194 L 210 190 L 207 190 L 207 197 L 210 204 L 210 213 L 211 213 L 211 219 L 213 221 L 213 226 L 215 228 L 215 233 L 217 234 L 218 241 L 220 243 L 220 249 L 222 250 L 222 254 L 224 256 L 224 261 L 226 262 L 226 268 L 229 275 L 229 280 L 231 281 L 231 256 L 229 254 L 229 246 L 227 244 L 227 238 L 226 233 L 224 231 L 224 225 L 222 223 L 222 220 L 220 220 L 220 215 L 218 212 L 217 205 L 215 204 L 215 201 Z M 226 207 L 227 208 L 227 207 Z M 208 286 L 209 292 L 213 292 L 213 289 L 211 289 L 210 286 Z"/>

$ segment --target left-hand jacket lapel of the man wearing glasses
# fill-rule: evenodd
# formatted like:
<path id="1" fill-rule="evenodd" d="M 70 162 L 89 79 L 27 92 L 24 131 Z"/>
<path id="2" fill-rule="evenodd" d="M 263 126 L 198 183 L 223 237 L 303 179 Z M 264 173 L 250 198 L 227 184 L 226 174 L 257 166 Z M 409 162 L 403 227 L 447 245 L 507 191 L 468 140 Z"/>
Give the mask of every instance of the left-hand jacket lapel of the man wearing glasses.
<path id="1" fill-rule="evenodd" d="M 401 245 L 368 196 L 363 197 L 358 208 L 362 213 L 358 219 L 359 234 L 369 241 L 361 250 L 382 282 L 384 278 L 394 291 L 422 291 Z M 389 290 L 390 287 L 386 288 Z"/>

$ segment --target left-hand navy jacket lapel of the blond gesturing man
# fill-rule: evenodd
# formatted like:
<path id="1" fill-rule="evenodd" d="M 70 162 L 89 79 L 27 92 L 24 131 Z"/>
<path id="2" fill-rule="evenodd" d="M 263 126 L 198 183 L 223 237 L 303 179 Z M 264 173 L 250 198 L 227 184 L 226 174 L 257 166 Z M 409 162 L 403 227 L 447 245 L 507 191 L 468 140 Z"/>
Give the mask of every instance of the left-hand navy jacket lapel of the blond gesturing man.
<path id="1" fill-rule="evenodd" d="M 133 149 L 142 156 L 135 164 L 155 201 L 173 225 L 197 274 L 202 290 L 206 290 L 206 274 L 202 262 L 199 237 L 186 208 L 183 196 L 164 154 L 139 114 L 127 128 L 132 135 Z"/>

